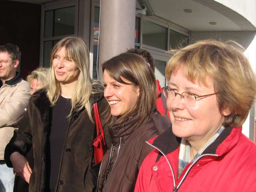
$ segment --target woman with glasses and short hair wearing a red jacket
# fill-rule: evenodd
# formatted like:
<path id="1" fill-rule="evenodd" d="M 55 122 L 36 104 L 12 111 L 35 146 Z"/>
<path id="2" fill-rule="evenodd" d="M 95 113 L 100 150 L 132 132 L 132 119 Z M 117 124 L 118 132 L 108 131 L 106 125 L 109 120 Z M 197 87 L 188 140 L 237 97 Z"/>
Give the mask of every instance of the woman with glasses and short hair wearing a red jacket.
<path id="1" fill-rule="evenodd" d="M 135 192 L 256 191 L 256 145 L 242 134 L 256 76 L 237 43 L 203 40 L 166 66 L 172 130 L 149 140 Z"/>

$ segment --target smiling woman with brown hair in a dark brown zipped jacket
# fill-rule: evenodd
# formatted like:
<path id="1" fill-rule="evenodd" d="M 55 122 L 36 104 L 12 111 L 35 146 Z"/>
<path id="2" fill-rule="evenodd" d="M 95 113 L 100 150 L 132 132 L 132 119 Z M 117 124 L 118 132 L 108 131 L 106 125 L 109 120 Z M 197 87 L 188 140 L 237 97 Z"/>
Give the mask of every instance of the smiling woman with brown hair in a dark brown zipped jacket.
<path id="1" fill-rule="evenodd" d="M 112 146 L 103 157 L 97 190 L 132 192 L 140 165 L 152 150 L 145 141 L 170 124 L 156 112 L 154 73 L 142 57 L 120 54 L 106 61 L 102 71 Z"/>

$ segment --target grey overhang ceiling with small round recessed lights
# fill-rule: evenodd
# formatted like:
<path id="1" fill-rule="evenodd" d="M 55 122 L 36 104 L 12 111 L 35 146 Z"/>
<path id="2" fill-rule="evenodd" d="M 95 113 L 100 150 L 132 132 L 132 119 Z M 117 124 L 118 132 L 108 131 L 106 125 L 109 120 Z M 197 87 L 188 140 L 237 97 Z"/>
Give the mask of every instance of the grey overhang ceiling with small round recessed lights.
<path id="1" fill-rule="evenodd" d="M 239 26 L 222 14 L 192 0 L 149 0 L 155 14 L 190 31 L 238 31 Z M 191 9 L 186 13 L 184 9 Z M 217 22 L 210 25 L 209 22 Z"/>

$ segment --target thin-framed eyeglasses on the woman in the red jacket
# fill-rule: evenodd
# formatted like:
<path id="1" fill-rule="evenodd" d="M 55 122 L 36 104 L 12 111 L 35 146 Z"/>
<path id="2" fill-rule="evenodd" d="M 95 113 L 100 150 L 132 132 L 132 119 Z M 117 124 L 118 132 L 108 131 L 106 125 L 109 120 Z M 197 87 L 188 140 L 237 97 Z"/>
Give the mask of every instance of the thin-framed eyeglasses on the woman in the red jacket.
<path id="1" fill-rule="evenodd" d="M 174 91 L 174 89 L 171 89 L 168 86 L 166 86 L 162 89 L 163 89 L 163 93 L 164 93 L 164 96 L 166 97 L 166 99 L 174 100 L 176 95 L 180 95 L 182 102 L 184 102 L 184 104 L 186 104 L 188 106 L 194 106 L 196 104 L 197 98 L 218 94 L 218 93 L 212 93 L 212 94 L 208 94 L 208 95 L 198 96 L 198 95 L 196 95 L 194 93 L 190 93 L 190 92 L 183 92 L 182 94 L 179 94 L 179 93 L 176 93 Z"/>

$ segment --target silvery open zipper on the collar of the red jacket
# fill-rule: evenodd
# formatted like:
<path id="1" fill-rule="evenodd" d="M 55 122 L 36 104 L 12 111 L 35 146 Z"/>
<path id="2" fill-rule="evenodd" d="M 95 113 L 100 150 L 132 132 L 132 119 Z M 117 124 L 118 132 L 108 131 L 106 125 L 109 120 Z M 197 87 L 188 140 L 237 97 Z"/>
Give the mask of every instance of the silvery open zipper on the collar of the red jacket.
<path id="1" fill-rule="evenodd" d="M 147 144 L 149 144 L 150 146 L 152 146 L 153 148 L 155 148 L 156 150 L 158 150 L 160 153 L 162 153 L 162 155 L 166 158 L 166 161 L 168 162 L 168 165 L 170 166 L 171 168 L 171 171 L 172 171 L 172 178 L 173 178 L 173 183 L 174 183 L 174 188 L 173 188 L 173 192 L 177 192 L 178 189 L 180 188 L 180 185 L 184 182 L 188 172 L 191 170 L 192 166 L 194 166 L 194 164 L 196 164 L 198 162 L 198 160 L 200 160 L 200 158 L 204 157 L 204 156 L 218 156 L 217 154 L 203 154 L 201 156 L 199 156 L 190 166 L 189 168 L 186 170 L 186 173 L 184 174 L 184 176 L 182 177 L 182 180 L 180 181 L 180 183 L 178 184 L 178 186 L 176 186 L 176 182 L 175 182 L 175 178 L 174 178 L 174 173 L 173 173 L 173 170 L 172 170 L 172 166 L 168 160 L 168 158 L 166 157 L 166 155 L 157 147 L 155 147 L 154 145 L 148 143 L 146 141 Z"/>

